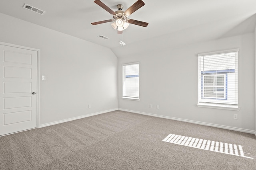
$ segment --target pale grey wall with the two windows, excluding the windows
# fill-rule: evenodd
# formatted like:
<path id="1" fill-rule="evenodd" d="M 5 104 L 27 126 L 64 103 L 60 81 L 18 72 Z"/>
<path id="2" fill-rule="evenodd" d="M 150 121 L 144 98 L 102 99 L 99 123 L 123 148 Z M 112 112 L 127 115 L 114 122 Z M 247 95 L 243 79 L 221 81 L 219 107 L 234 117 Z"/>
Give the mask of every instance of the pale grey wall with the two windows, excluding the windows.
<path id="1" fill-rule="evenodd" d="M 197 107 L 198 53 L 239 48 L 240 111 Z M 186 119 L 249 131 L 255 129 L 254 33 L 182 46 L 154 49 L 118 59 L 118 107 L 134 112 Z M 140 62 L 140 101 L 122 100 L 122 64 Z M 149 108 L 152 104 L 152 108 Z M 156 105 L 160 109 L 156 109 Z M 238 119 L 233 119 L 233 114 Z"/>

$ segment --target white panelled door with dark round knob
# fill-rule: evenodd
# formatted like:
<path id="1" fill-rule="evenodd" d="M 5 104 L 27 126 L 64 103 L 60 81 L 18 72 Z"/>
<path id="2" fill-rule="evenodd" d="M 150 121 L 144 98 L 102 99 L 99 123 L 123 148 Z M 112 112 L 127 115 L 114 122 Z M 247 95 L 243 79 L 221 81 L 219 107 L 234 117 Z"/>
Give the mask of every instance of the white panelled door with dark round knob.
<path id="1" fill-rule="evenodd" d="M 37 51 L 0 45 L 0 111 L 0 136 L 37 127 Z"/>

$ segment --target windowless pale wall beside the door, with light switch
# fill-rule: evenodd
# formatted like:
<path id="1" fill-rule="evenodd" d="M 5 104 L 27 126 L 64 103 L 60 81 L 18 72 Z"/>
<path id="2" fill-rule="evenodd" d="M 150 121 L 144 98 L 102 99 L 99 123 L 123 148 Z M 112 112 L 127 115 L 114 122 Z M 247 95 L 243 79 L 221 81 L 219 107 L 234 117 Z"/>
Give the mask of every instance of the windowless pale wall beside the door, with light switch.
<path id="1" fill-rule="evenodd" d="M 0 20 L 0 41 L 41 51 L 41 125 L 118 107 L 110 49 L 1 13 Z"/>

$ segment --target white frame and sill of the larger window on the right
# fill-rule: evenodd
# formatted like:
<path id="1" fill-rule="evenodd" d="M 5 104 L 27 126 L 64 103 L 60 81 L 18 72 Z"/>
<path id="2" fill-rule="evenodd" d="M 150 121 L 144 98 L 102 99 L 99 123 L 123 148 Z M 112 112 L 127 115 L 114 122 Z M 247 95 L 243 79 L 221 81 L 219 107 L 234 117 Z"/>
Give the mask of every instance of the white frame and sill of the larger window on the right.
<path id="1" fill-rule="evenodd" d="M 236 53 L 237 55 L 235 56 L 235 69 L 228 69 L 228 70 L 214 70 L 214 71 L 202 71 L 201 70 L 201 65 L 200 65 L 200 61 L 201 59 L 199 57 L 203 57 L 203 56 L 210 56 L 210 55 L 221 55 L 224 53 Z M 236 104 L 232 104 L 232 102 L 225 103 L 224 100 L 228 100 L 227 98 L 227 93 L 228 93 L 228 73 L 235 73 L 235 84 L 238 85 L 238 55 L 239 55 L 239 49 L 231 49 L 231 50 L 225 50 L 225 51 L 216 51 L 216 52 L 210 52 L 210 53 L 201 53 L 198 54 L 198 107 L 208 107 L 208 108 L 217 108 L 217 109 L 228 109 L 228 110 L 240 110 L 240 108 L 238 107 L 238 87 L 236 86 L 235 89 L 236 91 L 234 92 L 234 96 L 235 96 L 235 101 Z M 235 72 L 236 70 L 236 72 Z M 201 74 L 199 73 L 201 72 Z M 203 97 L 203 75 L 207 75 L 207 73 L 209 73 L 208 75 L 222 75 L 225 74 L 225 86 L 224 86 L 224 98 L 208 98 L 207 101 L 204 100 Z M 210 73 L 215 73 L 215 74 L 210 74 Z M 219 101 L 218 101 L 219 100 Z M 220 100 L 223 100 L 223 102 L 220 102 Z M 216 102 L 218 101 L 218 102 Z"/>

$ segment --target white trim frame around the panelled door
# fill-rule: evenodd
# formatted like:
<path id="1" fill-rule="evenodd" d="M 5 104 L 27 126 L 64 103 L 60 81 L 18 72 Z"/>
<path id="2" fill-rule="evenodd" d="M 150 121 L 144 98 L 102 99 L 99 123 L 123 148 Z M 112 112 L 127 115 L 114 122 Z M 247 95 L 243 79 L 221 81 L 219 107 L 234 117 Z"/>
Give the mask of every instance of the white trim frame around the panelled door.
<path id="1" fill-rule="evenodd" d="M 0 41 L 0 45 L 5 45 L 5 46 L 10 46 L 10 47 L 16 47 L 16 48 L 20 48 L 20 49 L 27 49 L 27 50 L 32 50 L 32 51 L 36 51 L 37 53 L 37 78 L 36 78 L 36 83 L 37 83 L 37 96 L 36 96 L 36 128 L 40 127 L 40 49 L 34 49 L 34 48 L 30 48 L 30 47 L 25 47 L 25 46 L 21 46 L 21 45 L 15 45 L 15 44 L 10 44 L 10 43 L 4 43 Z M 28 129 L 30 130 L 30 129 Z M 27 130 L 24 130 L 27 131 Z M 21 132 L 21 131 L 18 131 Z M 18 133 L 18 132 L 14 132 L 14 133 Z M 13 133 L 9 133 L 8 135 L 13 134 Z M 4 136 L 4 135 L 2 135 Z"/>

